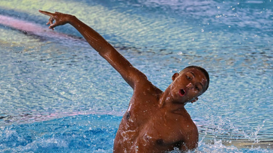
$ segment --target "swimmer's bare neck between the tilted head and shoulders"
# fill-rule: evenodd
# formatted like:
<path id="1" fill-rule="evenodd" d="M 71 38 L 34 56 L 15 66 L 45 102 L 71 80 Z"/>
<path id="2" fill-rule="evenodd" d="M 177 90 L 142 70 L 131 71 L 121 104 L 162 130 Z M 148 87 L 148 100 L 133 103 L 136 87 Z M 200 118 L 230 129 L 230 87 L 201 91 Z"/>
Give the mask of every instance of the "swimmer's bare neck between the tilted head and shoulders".
<path id="1" fill-rule="evenodd" d="M 159 106 L 160 108 L 167 108 L 170 111 L 185 109 L 186 103 L 174 102 L 172 95 L 170 94 L 170 86 L 160 95 Z"/>

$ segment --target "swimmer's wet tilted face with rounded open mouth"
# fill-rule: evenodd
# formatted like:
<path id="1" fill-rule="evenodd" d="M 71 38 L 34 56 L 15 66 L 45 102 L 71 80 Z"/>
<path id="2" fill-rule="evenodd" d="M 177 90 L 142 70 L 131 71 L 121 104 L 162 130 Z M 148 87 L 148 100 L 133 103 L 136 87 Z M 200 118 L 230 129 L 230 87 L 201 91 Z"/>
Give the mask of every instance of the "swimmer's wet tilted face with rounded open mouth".
<path id="1" fill-rule="evenodd" d="M 170 85 L 170 94 L 177 103 L 192 102 L 203 94 L 207 87 L 207 79 L 203 72 L 196 68 L 186 68 L 175 73 Z"/>

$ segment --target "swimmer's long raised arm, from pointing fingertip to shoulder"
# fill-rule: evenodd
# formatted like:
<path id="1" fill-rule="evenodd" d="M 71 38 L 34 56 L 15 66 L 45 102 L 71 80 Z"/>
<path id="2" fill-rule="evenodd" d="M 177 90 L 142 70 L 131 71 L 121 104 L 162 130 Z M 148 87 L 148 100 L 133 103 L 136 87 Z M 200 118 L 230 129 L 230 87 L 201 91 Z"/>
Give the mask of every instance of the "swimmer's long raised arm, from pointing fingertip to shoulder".
<path id="1" fill-rule="evenodd" d="M 91 27 L 87 26 L 75 16 L 64 14 L 64 13 L 50 13 L 47 11 L 41 11 L 47 16 L 49 16 L 50 24 L 49 29 L 54 30 L 54 27 L 61 26 L 64 24 L 71 24 L 76 28 L 80 34 L 85 38 L 85 40 L 93 47 L 99 55 L 101 55 L 107 62 L 109 62 L 114 69 L 120 73 L 122 78 L 134 89 L 136 82 L 148 81 L 145 74 L 132 66 L 132 64 L 125 59 L 118 51 L 107 42 L 99 33 L 93 30 Z M 55 23 L 53 21 L 55 20 Z"/>

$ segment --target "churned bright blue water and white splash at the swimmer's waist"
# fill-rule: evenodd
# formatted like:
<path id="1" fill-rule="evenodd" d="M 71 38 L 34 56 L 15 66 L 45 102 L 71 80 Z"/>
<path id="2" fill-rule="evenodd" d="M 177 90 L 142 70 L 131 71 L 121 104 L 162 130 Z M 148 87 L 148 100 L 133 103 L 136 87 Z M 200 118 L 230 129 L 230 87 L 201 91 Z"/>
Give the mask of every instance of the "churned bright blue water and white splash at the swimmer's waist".
<path id="1" fill-rule="evenodd" d="M 1 127 L 1 152 L 95 152 L 110 153 L 122 117 L 76 115 L 50 121 Z M 201 152 L 269 152 L 249 147 L 238 149 L 199 142 Z M 172 151 L 177 153 L 178 151 Z"/>

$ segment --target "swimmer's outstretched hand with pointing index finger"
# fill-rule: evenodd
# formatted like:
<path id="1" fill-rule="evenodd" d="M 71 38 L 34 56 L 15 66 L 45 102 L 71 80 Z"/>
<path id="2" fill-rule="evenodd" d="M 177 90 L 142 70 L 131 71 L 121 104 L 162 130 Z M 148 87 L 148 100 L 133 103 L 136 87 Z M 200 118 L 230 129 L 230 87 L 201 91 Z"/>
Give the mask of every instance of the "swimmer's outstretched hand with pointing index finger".
<path id="1" fill-rule="evenodd" d="M 42 10 L 39 10 L 39 12 L 50 17 L 49 21 L 47 22 L 47 25 L 50 24 L 48 28 L 52 30 L 54 30 L 56 26 L 62 26 L 64 24 L 69 23 L 72 17 L 72 15 L 70 14 L 64 14 L 60 12 L 51 13 L 51 12 L 42 11 Z M 53 23 L 54 20 L 55 20 L 55 23 Z"/>

